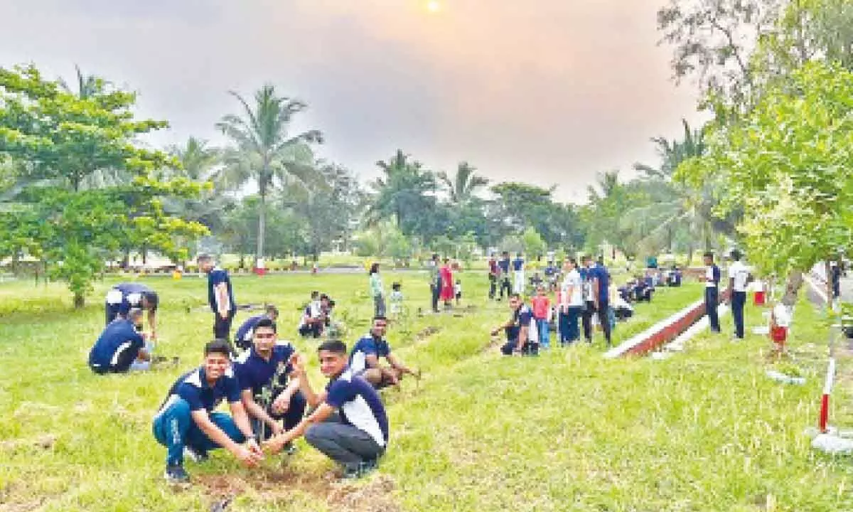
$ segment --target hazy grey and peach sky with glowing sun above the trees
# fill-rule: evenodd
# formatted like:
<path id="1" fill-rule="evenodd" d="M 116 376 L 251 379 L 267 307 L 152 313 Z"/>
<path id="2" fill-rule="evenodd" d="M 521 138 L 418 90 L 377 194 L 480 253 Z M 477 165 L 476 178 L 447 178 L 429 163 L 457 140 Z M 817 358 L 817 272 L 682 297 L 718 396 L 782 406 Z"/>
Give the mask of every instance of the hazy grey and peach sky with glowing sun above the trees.
<path id="1" fill-rule="evenodd" d="M 467 160 L 491 180 L 557 185 L 583 202 L 596 173 L 656 162 L 695 88 L 670 80 L 663 0 L 0 0 L 0 66 L 74 65 L 139 94 L 138 113 L 194 136 L 262 84 L 309 108 L 318 154 L 377 177 L 397 148 L 427 168 Z"/>

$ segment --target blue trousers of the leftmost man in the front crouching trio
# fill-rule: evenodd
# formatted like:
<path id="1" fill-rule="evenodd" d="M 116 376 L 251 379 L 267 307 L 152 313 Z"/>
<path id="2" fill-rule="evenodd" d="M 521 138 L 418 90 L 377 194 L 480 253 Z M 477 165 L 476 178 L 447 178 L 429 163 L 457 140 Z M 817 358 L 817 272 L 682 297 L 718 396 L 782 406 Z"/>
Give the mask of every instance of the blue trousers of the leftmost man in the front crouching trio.
<path id="1" fill-rule="evenodd" d="M 184 399 L 177 399 L 154 417 L 152 425 L 154 438 L 168 449 L 166 457 L 168 465 L 183 464 L 184 446 L 189 446 L 200 453 L 221 448 L 201 431 L 192 416 L 189 416 L 189 412 L 189 403 Z M 209 415 L 213 424 L 235 443 L 246 440 L 231 416 L 223 412 L 211 412 Z"/>

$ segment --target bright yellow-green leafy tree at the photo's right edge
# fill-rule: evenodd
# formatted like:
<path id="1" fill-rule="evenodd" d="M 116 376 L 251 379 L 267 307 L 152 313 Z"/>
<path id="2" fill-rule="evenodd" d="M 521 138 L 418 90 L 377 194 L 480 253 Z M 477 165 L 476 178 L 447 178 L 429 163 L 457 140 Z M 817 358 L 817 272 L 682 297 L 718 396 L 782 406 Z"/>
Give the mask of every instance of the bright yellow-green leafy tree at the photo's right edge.
<path id="1" fill-rule="evenodd" d="M 853 73 L 809 63 L 710 140 L 678 172 L 688 180 L 722 172 L 722 212 L 746 207 L 739 231 L 751 263 L 796 285 L 853 246 Z M 792 304 L 798 286 L 788 288 Z"/>

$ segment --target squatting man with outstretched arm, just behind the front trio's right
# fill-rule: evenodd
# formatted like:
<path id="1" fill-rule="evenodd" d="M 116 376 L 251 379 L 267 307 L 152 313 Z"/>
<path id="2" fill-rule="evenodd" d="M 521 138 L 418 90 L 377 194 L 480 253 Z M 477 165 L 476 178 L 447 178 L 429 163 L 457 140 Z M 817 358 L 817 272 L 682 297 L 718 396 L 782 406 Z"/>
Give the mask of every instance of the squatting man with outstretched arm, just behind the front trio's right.
<path id="1" fill-rule="evenodd" d="M 364 377 L 377 389 L 388 386 L 397 386 L 403 375 L 414 375 L 418 378 L 420 374 L 409 369 L 403 361 L 391 352 L 391 346 L 385 339 L 385 331 L 388 326 L 386 317 L 374 317 L 373 327 L 367 335 L 363 335 L 350 352 L 350 369 L 355 375 Z M 379 358 L 386 358 L 389 366 L 382 366 Z"/>

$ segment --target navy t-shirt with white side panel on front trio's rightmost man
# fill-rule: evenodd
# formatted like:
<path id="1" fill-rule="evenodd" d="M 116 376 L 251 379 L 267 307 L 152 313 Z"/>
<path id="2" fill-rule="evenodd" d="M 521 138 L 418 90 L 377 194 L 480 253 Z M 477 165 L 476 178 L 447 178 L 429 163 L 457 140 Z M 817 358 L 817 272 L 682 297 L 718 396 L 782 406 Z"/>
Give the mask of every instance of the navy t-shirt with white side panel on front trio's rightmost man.
<path id="1" fill-rule="evenodd" d="M 388 416 L 379 393 L 362 377 L 346 369 L 326 387 L 326 403 L 339 410 L 341 422 L 358 428 L 376 441 L 388 444 Z"/>

